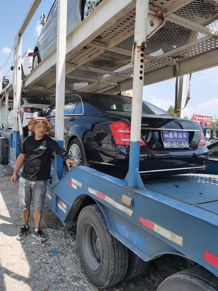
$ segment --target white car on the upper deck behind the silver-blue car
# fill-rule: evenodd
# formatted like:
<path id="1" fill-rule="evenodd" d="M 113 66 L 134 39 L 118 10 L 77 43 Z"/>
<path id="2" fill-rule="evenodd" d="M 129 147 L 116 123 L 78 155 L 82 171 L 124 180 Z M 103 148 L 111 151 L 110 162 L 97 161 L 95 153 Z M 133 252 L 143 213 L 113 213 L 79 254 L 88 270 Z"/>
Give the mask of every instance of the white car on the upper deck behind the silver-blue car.
<path id="1" fill-rule="evenodd" d="M 28 49 L 27 51 L 25 51 L 25 53 L 22 55 L 21 58 L 21 78 L 22 80 L 24 80 L 26 78 L 26 76 L 28 76 L 32 70 L 32 62 L 33 62 L 33 50 L 32 49 Z M 13 75 L 14 75 L 14 67 L 11 67 L 12 73 L 9 76 L 8 80 L 7 80 L 7 84 L 9 84 L 10 82 L 12 82 L 13 80 Z"/>

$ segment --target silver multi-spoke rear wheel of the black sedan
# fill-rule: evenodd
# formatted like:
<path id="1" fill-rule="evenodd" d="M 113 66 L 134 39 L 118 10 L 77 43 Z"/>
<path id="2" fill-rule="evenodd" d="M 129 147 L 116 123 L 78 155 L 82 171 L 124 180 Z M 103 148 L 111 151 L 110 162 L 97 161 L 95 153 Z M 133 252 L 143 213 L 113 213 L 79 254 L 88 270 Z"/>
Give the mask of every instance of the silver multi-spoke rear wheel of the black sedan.
<path id="1" fill-rule="evenodd" d="M 78 138 L 74 138 L 72 140 L 72 142 L 69 145 L 67 153 L 72 160 L 87 165 L 87 160 L 83 150 L 83 146 Z"/>

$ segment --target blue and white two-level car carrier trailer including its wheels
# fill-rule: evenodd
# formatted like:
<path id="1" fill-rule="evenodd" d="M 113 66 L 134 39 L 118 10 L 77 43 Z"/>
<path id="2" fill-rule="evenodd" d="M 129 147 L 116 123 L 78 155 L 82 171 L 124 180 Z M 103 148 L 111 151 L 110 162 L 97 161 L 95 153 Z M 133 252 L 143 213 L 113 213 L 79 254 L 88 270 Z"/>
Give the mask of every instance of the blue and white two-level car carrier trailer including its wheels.
<path id="1" fill-rule="evenodd" d="M 33 1 L 31 11 L 36 9 L 36 2 Z M 165 2 L 167 5 L 164 10 L 160 7 Z M 31 90 L 33 95 L 34 90 L 35 94 L 36 92 L 39 94 L 41 88 L 40 85 L 37 85 L 37 80 L 40 79 L 41 75 L 43 77 L 50 75 L 54 78 L 54 74 L 51 73 L 49 68 L 54 66 L 56 60 L 55 98 L 58 110 L 55 139 L 63 146 L 63 100 L 66 92 L 66 90 L 64 91 L 65 74 L 63 72 L 70 71 L 70 69 L 73 71 L 76 67 L 80 68 L 81 71 L 86 70 L 83 67 L 84 60 L 81 61 L 80 65 L 69 65 L 66 61 L 69 54 L 72 53 L 76 58 L 77 52 L 81 49 L 81 54 L 83 54 L 84 50 L 88 50 L 88 44 L 90 44 L 90 47 L 96 46 L 98 49 L 94 50 L 91 55 L 99 56 L 106 49 L 106 46 L 101 45 L 99 48 L 100 43 L 96 44 L 96 39 L 100 39 L 100 30 L 102 30 L 101 36 L 104 35 L 105 38 L 110 39 L 108 30 L 110 30 L 111 23 L 119 23 L 120 25 L 121 19 L 124 21 L 122 17 L 125 15 L 126 22 L 131 17 L 135 17 L 133 21 L 135 36 L 132 52 L 134 70 L 132 72 L 133 81 L 131 80 L 133 88 L 131 129 L 134 130 L 131 130 L 130 135 L 129 172 L 123 181 L 78 164 L 69 171 L 65 171 L 63 175 L 62 162 L 55 156 L 53 176 L 48 181 L 45 199 L 46 204 L 65 226 L 77 224 L 77 246 L 80 261 L 85 274 L 98 288 L 114 285 L 123 278 L 137 276 L 149 268 L 150 260 L 164 254 L 174 254 L 191 260 L 195 267 L 168 277 L 160 284 L 158 290 L 217 290 L 218 177 L 179 175 L 159 179 L 148 178 L 142 181 L 138 171 L 141 128 L 139 112 L 141 112 L 142 106 L 144 77 L 149 78 L 144 70 L 145 59 L 147 61 L 149 59 L 149 56 L 145 55 L 148 39 L 151 36 L 154 37 L 155 33 L 161 27 L 164 27 L 166 19 L 170 19 L 169 21 L 174 21 L 174 23 L 182 23 L 185 27 L 189 26 L 195 31 L 204 32 L 208 42 L 211 39 L 216 41 L 216 33 L 212 30 L 209 31 L 208 27 L 200 26 L 187 19 L 184 20 L 173 13 L 189 5 L 190 2 L 192 1 L 149 2 L 147 0 L 126 0 L 117 1 L 115 7 L 113 0 L 103 0 L 95 12 L 79 24 L 73 34 L 68 37 L 67 42 L 66 35 L 59 33 L 60 27 L 62 31 L 64 31 L 63 27 L 66 27 L 66 2 L 65 5 L 62 2 L 62 5 L 58 5 L 57 59 L 54 53 L 51 54 L 23 82 L 22 90 L 25 90 L 27 94 L 28 90 L 29 94 L 31 94 Z M 204 7 L 205 2 L 195 1 L 199 7 L 200 4 Z M 195 7 L 190 7 L 193 13 Z M 101 13 L 104 12 L 107 12 L 104 14 L 107 17 L 101 20 Z M 26 17 L 27 20 L 28 17 Z M 91 28 L 93 31 L 87 32 L 85 28 L 89 27 L 91 23 L 97 23 L 96 27 Z M 21 26 L 17 35 L 15 59 L 17 54 L 21 55 L 19 53 L 19 50 L 21 50 L 19 43 L 22 29 L 23 26 Z M 129 28 L 129 31 L 130 29 L 132 27 Z M 81 35 L 81 32 L 85 32 L 85 35 Z M 79 41 L 77 40 L 78 35 L 80 35 Z M 124 37 L 122 40 L 124 40 Z M 197 42 L 200 43 L 197 40 L 193 45 L 196 46 Z M 116 43 L 118 44 L 119 41 Z M 84 49 L 84 47 L 86 48 Z M 192 50 L 192 45 L 189 48 Z M 112 46 L 108 45 L 107 49 L 115 53 Z M 60 53 L 63 51 L 66 51 L 66 56 Z M 174 48 L 173 53 L 178 51 L 179 49 Z M 116 52 L 129 53 L 119 48 L 119 46 L 116 46 Z M 205 57 L 215 56 L 216 53 L 217 49 L 211 49 L 210 55 L 208 54 Z M 92 57 L 94 60 L 94 56 L 88 57 L 89 60 Z M 150 56 L 150 59 L 155 61 L 152 56 Z M 159 62 L 165 66 L 164 74 L 168 74 L 167 78 L 170 78 L 206 68 L 205 61 L 203 65 L 202 63 L 199 64 L 199 58 L 195 59 L 193 57 L 193 59 L 190 66 L 202 65 L 202 68 L 193 69 L 190 66 L 187 68 L 189 62 L 186 62 L 186 60 L 184 63 L 176 63 L 174 66 L 169 64 L 170 61 L 167 58 L 161 58 Z M 12 167 L 14 167 L 20 151 L 20 132 L 17 130 L 17 117 L 18 120 L 20 119 L 17 115 L 19 112 L 19 93 L 21 92 L 21 84 L 19 83 L 21 76 L 18 70 L 19 58 L 17 58 L 17 61 L 17 73 L 13 84 L 13 101 L 16 105 L 14 109 L 14 129 L 7 129 L 7 121 L 6 128 L 0 129 L 2 136 L 0 141 L 1 162 L 3 163 L 5 159 L 8 159 L 8 163 Z M 65 68 L 66 64 L 68 65 L 67 69 Z M 217 60 L 215 58 L 213 60 L 208 59 L 207 65 L 208 67 L 217 65 Z M 130 69 L 124 69 L 130 71 Z M 100 63 L 98 68 L 93 66 L 93 71 L 103 72 L 104 70 Z M 151 72 L 151 75 L 153 80 L 147 83 L 152 83 L 160 78 L 158 73 L 153 75 Z M 122 79 L 122 76 L 119 77 Z M 50 80 L 51 84 L 53 84 L 52 78 Z M 83 79 L 85 80 L 84 77 Z M 92 88 L 92 90 L 95 90 L 95 86 L 96 88 L 98 86 L 98 90 L 100 90 L 99 84 L 101 81 L 99 81 L 99 84 L 95 84 L 97 82 L 94 80 L 92 82 L 93 84 L 89 84 L 85 89 L 90 90 Z M 130 80 L 124 80 L 121 84 L 115 84 L 116 82 L 110 81 L 113 84 L 106 84 L 105 86 L 108 87 L 106 90 L 107 92 L 117 92 L 125 84 L 131 86 L 129 82 Z M 8 88 L 10 86 L 11 84 L 8 85 Z M 4 91 L 6 107 L 8 88 L 6 87 Z"/>

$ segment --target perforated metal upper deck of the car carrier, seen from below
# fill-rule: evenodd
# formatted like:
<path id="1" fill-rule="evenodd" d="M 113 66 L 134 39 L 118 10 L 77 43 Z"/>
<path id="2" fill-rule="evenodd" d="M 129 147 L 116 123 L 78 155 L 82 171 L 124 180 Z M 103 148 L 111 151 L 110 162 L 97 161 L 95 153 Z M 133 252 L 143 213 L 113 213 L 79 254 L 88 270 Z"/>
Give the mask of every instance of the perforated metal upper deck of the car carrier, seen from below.
<path id="1" fill-rule="evenodd" d="M 218 65 L 217 1 L 150 0 L 149 14 L 164 17 L 166 22 L 147 43 L 144 85 Z M 103 0 L 67 37 L 65 92 L 131 89 L 134 32 L 135 0 Z M 26 77 L 22 90 L 31 96 L 40 92 L 54 98 L 55 84 L 56 49 Z"/>

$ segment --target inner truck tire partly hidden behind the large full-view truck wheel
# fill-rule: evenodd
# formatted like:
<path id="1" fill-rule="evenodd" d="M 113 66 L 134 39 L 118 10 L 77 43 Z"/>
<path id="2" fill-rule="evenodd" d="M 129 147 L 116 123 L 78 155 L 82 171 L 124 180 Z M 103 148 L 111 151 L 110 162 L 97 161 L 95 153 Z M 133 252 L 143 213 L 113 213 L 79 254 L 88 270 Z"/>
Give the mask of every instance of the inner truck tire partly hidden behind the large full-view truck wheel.
<path id="1" fill-rule="evenodd" d="M 132 279 L 143 273 L 148 268 L 150 262 L 145 262 L 134 252 L 129 250 L 129 263 L 124 279 Z"/>

